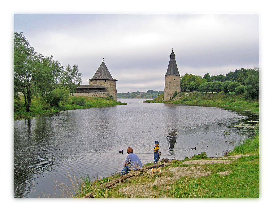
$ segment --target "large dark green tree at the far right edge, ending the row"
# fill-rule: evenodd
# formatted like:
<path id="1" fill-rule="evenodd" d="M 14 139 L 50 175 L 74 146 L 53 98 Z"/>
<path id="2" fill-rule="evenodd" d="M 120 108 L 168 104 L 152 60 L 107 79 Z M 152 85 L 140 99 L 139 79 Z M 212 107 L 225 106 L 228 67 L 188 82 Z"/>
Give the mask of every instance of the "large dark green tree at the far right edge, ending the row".
<path id="1" fill-rule="evenodd" d="M 245 99 L 259 99 L 259 68 L 248 72 L 245 80 Z"/>

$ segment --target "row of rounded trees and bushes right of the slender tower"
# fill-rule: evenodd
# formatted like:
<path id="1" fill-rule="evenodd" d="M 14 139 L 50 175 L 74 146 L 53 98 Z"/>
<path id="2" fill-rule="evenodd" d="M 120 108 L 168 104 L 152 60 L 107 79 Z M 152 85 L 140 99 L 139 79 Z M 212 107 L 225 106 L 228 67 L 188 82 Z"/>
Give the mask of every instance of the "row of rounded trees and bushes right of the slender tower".
<path id="1" fill-rule="evenodd" d="M 181 91 L 216 92 L 244 94 L 245 99 L 259 99 L 259 68 L 235 70 L 226 75 L 204 77 L 184 74 L 180 77 Z"/>

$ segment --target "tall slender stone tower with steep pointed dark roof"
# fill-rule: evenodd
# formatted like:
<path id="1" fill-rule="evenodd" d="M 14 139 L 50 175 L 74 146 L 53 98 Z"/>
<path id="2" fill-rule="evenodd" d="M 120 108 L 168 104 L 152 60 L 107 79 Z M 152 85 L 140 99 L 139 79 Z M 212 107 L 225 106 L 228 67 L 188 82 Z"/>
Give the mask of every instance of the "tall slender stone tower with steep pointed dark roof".
<path id="1" fill-rule="evenodd" d="M 168 65 L 167 73 L 165 74 L 165 88 L 163 101 L 169 101 L 173 97 L 175 91 L 181 92 L 180 74 L 175 61 L 175 54 L 173 51 L 170 54 L 170 62 Z"/>

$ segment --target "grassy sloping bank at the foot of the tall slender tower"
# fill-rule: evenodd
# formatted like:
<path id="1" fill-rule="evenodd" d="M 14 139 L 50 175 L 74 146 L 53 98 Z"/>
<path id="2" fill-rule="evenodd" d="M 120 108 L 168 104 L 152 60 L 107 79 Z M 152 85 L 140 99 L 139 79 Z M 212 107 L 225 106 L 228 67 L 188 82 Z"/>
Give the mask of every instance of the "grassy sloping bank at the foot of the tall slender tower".
<path id="1" fill-rule="evenodd" d="M 181 92 L 168 102 L 163 102 L 163 97 L 164 94 L 159 95 L 153 100 L 146 100 L 146 102 L 225 107 L 249 110 L 252 113 L 259 113 L 259 101 L 245 100 L 242 94 L 225 94 L 223 92 L 211 94 L 197 91 L 191 93 Z"/>

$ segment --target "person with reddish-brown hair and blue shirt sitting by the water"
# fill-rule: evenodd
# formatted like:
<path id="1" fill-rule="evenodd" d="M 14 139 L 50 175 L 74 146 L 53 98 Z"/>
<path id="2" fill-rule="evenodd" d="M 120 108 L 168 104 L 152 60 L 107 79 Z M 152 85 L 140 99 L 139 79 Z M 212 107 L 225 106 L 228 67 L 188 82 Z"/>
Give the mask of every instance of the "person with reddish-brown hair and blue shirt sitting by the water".
<path id="1" fill-rule="evenodd" d="M 135 153 L 133 153 L 133 149 L 128 147 L 127 149 L 128 156 L 126 157 L 124 168 L 121 171 L 120 175 L 124 175 L 129 173 L 131 170 L 138 170 L 142 168 L 142 163 L 137 157 Z"/>

